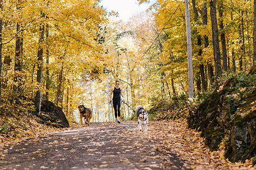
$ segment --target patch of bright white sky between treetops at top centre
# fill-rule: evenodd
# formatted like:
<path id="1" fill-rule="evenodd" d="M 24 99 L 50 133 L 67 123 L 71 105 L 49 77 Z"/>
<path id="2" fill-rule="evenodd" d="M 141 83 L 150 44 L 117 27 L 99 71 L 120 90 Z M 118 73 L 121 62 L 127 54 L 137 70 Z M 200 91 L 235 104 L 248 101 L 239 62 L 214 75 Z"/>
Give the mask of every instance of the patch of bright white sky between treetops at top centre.
<path id="1" fill-rule="evenodd" d="M 109 12 L 118 12 L 118 18 L 115 19 L 122 19 L 124 22 L 128 22 L 129 18 L 134 14 L 146 11 L 150 6 L 146 3 L 139 5 L 137 0 L 102 0 L 100 5 L 106 8 Z"/>

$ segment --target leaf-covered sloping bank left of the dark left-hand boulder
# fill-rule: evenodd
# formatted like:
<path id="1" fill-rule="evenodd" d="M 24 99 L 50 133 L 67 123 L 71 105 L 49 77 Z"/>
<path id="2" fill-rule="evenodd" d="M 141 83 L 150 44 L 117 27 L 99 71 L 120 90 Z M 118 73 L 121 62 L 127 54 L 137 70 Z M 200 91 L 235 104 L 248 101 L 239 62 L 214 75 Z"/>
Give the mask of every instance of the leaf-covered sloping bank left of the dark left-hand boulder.
<path id="1" fill-rule="evenodd" d="M 44 125 L 35 115 L 34 104 L 30 100 L 2 97 L 0 112 L 0 143 L 32 135 L 47 133 L 55 128 Z"/>

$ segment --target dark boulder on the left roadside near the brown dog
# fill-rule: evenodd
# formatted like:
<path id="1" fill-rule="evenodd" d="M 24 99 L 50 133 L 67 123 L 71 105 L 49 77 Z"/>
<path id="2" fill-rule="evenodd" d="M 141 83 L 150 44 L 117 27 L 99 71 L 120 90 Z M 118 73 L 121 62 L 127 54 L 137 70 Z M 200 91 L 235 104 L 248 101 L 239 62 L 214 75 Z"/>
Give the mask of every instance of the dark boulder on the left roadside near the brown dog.
<path id="1" fill-rule="evenodd" d="M 68 128 L 69 122 L 60 107 L 51 101 L 42 101 L 39 117 L 43 124 L 51 125 L 56 128 Z"/>

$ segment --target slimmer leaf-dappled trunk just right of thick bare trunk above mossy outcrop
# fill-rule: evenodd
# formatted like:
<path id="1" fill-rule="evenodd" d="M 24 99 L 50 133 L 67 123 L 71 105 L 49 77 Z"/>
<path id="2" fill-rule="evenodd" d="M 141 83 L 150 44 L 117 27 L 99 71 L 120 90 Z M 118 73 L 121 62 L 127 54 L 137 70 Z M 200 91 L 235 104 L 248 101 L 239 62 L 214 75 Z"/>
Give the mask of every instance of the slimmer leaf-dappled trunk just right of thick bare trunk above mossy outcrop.
<path id="1" fill-rule="evenodd" d="M 225 40 L 225 33 L 224 33 L 224 24 L 222 18 L 222 10 L 223 10 L 223 2 L 220 1 L 220 8 L 218 8 L 218 16 L 220 17 L 220 37 L 221 37 L 221 47 L 222 47 L 222 63 L 223 63 L 223 70 L 228 71 L 228 64 L 227 64 L 227 55 L 226 55 L 226 40 Z"/>

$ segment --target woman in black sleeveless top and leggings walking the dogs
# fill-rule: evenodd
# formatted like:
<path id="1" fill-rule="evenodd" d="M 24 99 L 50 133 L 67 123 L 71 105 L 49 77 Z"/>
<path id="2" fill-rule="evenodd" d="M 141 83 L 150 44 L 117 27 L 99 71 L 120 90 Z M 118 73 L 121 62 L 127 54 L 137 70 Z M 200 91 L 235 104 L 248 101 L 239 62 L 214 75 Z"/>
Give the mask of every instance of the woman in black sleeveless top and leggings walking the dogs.
<path id="1" fill-rule="evenodd" d="M 114 110 L 115 110 L 115 124 L 120 124 L 120 105 L 121 105 L 121 96 L 123 97 L 123 94 L 122 94 L 122 88 L 119 87 L 119 80 L 116 80 L 115 81 L 115 87 L 113 87 L 111 89 L 111 92 L 110 92 L 110 99 L 111 99 L 111 95 L 112 95 L 112 92 L 113 92 L 113 107 L 114 107 Z"/>

